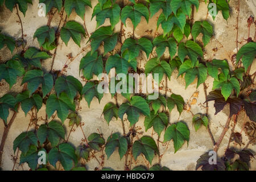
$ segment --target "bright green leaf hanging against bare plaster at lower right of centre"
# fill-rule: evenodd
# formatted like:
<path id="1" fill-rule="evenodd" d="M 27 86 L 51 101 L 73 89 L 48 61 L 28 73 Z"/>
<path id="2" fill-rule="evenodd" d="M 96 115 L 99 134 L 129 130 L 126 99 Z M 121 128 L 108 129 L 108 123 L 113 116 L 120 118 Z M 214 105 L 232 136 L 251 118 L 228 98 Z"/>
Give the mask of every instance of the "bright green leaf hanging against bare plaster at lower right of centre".
<path id="1" fill-rule="evenodd" d="M 168 142 L 171 139 L 174 140 L 174 153 L 176 153 L 177 150 L 183 146 L 185 140 L 187 140 L 187 142 L 189 141 L 189 130 L 187 125 L 183 122 L 178 122 L 177 124 L 169 126 L 164 133 L 163 142 Z"/>

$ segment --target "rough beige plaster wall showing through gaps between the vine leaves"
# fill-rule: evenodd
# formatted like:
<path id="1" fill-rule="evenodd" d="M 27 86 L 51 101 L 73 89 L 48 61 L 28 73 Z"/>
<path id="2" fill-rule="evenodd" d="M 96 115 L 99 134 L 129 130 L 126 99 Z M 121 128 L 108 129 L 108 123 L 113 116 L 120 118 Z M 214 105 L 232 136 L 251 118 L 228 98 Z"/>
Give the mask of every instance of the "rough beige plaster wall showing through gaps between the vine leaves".
<path id="1" fill-rule="evenodd" d="M 33 39 L 34 32 L 37 28 L 44 26 L 47 24 L 47 17 L 39 17 L 38 16 L 38 0 L 32 1 L 33 5 L 28 5 L 28 11 L 26 13 L 26 18 L 20 13 L 20 16 L 22 18 L 22 23 L 24 27 L 24 34 L 25 40 L 27 42 L 27 47 L 39 47 L 39 44 L 37 40 Z M 245 44 L 245 39 L 247 38 L 247 18 L 249 18 L 250 15 L 255 16 L 256 13 L 256 6 L 254 0 L 242 0 L 240 1 L 240 18 L 239 18 L 239 36 L 238 41 L 242 42 L 239 44 L 239 47 L 241 47 L 243 44 Z M 125 1 L 127 3 L 127 1 Z M 236 53 L 236 24 L 237 24 L 237 3 L 238 1 L 230 1 L 230 8 L 231 8 L 231 18 L 224 20 L 222 18 L 221 13 L 217 15 L 217 18 L 213 21 L 212 17 L 208 15 L 207 20 L 211 24 L 213 24 L 214 27 L 214 38 L 210 40 L 210 43 L 204 48 L 204 56 L 205 59 L 226 59 L 229 62 L 230 68 L 232 68 L 232 63 L 230 60 L 230 57 Z M 94 7 L 97 4 L 97 1 L 92 1 L 92 6 Z M 86 7 L 86 27 L 88 28 L 89 34 L 92 33 L 96 28 L 96 20 L 95 18 L 91 19 L 92 16 L 92 9 L 89 9 Z M 65 15 L 65 14 L 64 14 Z M 156 30 L 156 19 L 160 15 L 160 11 L 154 15 L 149 22 L 147 23 L 144 18 L 142 18 L 142 22 L 138 25 L 138 27 L 135 30 L 135 36 L 138 38 L 144 34 L 146 30 L 151 31 L 150 35 L 146 35 L 148 38 L 151 38 L 151 40 L 154 38 L 154 33 Z M 195 13 L 195 21 L 196 20 L 204 20 L 205 16 L 207 15 L 207 6 L 201 2 L 199 10 Z M 0 7 L 0 29 L 2 30 L 3 34 L 9 34 L 10 36 L 13 36 L 14 38 L 18 39 L 21 36 L 21 30 L 20 30 L 20 24 L 16 21 L 18 20 L 18 16 L 15 13 L 15 10 L 13 13 L 11 13 L 9 10 L 7 10 L 5 7 Z M 57 27 L 60 20 L 60 16 L 56 14 L 53 17 L 51 26 Z M 71 14 L 71 16 L 68 18 L 68 20 L 76 20 L 77 22 L 80 22 L 81 24 L 82 19 L 77 16 L 74 12 Z M 118 32 L 120 30 L 120 23 L 119 22 L 115 26 L 115 31 Z M 104 26 L 108 26 L 109 20 L 107 19 Z M 126 38 L 132 34 L 133 32 L 133 26 L 131 24 L 131 21 L 128 19 L 126 23 L 127 27 L 125 28 L 125 34 Z M 252 26 L 253 27 L 253 26 Z M 251 28 L 250 36 L 254 37 L 254 28 Z M 162 34 L 162 29 L 159 28 L 158 30 L 159 34 Z M 200 39 L 197 38 L 198 40 Z M 124 39 L 123 39 L 124 40 Z M 57 50 L 57 55 L 55 59 L 55 63 L 53 66 L 53 69 L 60 70 L 63 68 L 65 62 L 67 61 L 67 55 L 69 53 L 72 53 L 73 56 L 77 55 L 82 48 L 86 47 L 87 39 L 82 38 L 81 42 L 81 48 L 79 48 L 71 39 L 68 43 L 68 47 L 65 46 L 65 44 L 60 40 L 60 47 Z M 223 47 L 222 47 L 223 46 Z M 214 52 L 213 48 L 218 48 L 217 52 Z M 21 48 L 15 49 L 14 53 L 20 52 Z M 67 68 L 67 75 L 72 75 L 76 78 L 79 78 L 81 81 L 81 75 L 79 74 L 79 63 L 82 58 L 82 56 L 86 55 L 86 52 L 90 51 L 90 49 L 87 49 L 86 51 L 82 52 L 71 64 L 69 64 L 69 67 Z M 101 50 L 102 51 L 102 50 Z M 13 53 L 13 54 L 14 54 Z M 53 51 L 51 51 L 53 53 Z M 166 57 L 168 52 L 166 51 L 165 55 Z M 154 54 L 153 54 L 154 56 Z M 0 59 L 1 62 L 5 62 L 9 60 L 12 57 L 10 51 L 5 47 L 0 51 Z M 144 67 L 144 64 L 146 64 L 146 55 L 141 55 L 142 57 L 142 67 Z M 141 60 L 141 57 L 138 57 L 138 62 Z M 51 68 L 52 59 L 44 60 L 42 61 L 43 69 L 48 72 Z M 255 72 L 256 70 L 256 61 L 254 61 L 251 72 Z M 18 78 L 18 82 L 13 86 L 13 88 L 9 91 L 9 85 L 5 81 L 1 81 L 3 83 L 3 86 L 0 87 L 0 96 L 2 97 L 7 92 L 18 93 L 22 90 L 23 86 L 20 86 L 21 78 Z M 174 71 L 174 73 L 171 76 L 171 81 L 168 81 L 168 87 L 172 90 L 175 94 L 180 94 L 184 101 L 187 102 L 188 105 L 189 101 L 191 100 L 191 96 L 195 92 L 199 92 L 198 98 L 196 98 L 196 102 L 189 107 L 191 107 L 191 111 L 196 113 L 205 113 L 205 108 L 202 106 L 205 102 L 205 95 L 203 90 L 203 84 L 199 86 L 198 89 L 196 89 L 196 81 L 195 80 L 191 85 L 188 86 L 187 89 L 185 89 L 185 81 L 184 78 L 177 78 L 177 71 Z M 208 77 L 207 79 L 207 85 L 208 89 L 207 92 L 209 93 L 212 90 L 212 82 L 213 79 L 211 77 Z M 85 82 L 83 82 L 85 84 Z M 165 83 L 163 82 L 163 85 Z M 170 93 L 169 93 L 170 94 Z M 193 97 L 192 97 L 193 98 Z M 104 121 L 104 118 L 101 117 L 102 110 L 108 102 L 114 100 L 111 98 L 110 94 L 105 94 L 104 98 L 102 98 L 100 104 L 98 103 L 97 99 L 94 98 L 90 108 L 86 104 L 85 100 L 83 99 L 81 101 L 81 110 L 79 111 L 79 114 L 82 118 L 82 122 L 85 123 L 84 126 L 82 126 L 83 130 L 85 131 L 86 137 L 89 136 L 90 133 L 97 132 L 97 129 L 104 134 L 104 138 L 108 138 L 108 136 L 113 132 L 119 131 L 122 133 L 122 125 L 121 120 L 118 119 L 115 121 L 113 119 L 112 122 L 110 122 L 110 125 Z M 122 96 L 118 97 L 118 104 L 122 104 L 125 99 Z M 228 107 L 225 107 L 225 109 L 218 113 L 217 115 L 214 115 L 215 109 L 213 107 L 213 102 L 209 102 L 209 126 L 212 130 L 214 139 L 217 140 L 220 136 L 222 129 L 225 125 L 226 119 L 228 118 Z M 9 120 L 11 118 L 12 112 L 10 111 Z M 244 113 L 242 113 L 240 118 L 238 118 L 238 124 L 236 126 L 235 131 L 240 132 L 242 129 L 242 118 Z M 40 109 L 38 113 L 38 117 L 45 117 L 45 106 L 43 105 L 42 109 Z M 179 117 L 179 113 L 176 109 L 172 110 L 170 113 L 170 123 L 177 122 L 177 119 L 179 118 L 179 121 L 183 121 L 187 123 L 189 130 L 190 130 L 190 139 L 189 144 L 187 145 L 187 142 L 183 145 L 183 147 L 180 148 L 179 151 L 174 154 L 174 146 L 173 142 L 170 142 L 170 146 L 166 150 L 163 158 L 162 158 L 162 166 L 167 166 L 172 170 L 195 170 L 196 167 L 196 160 L 199 159 L 200 155 L 204 154 L 205 152 L 213 149 L 212 141 L 210 140 L 209 134 L 205 127 L 201 127 L 197 132 L 195 131 L 195 128 L 192 126 L 192 115 L 190 112 L 184 110 L 183 113 Z M 248 118 L 246 118 L 246 121 Z M 151 135 L 152 129 L 148 130 L 146 133 L 144 132 L 144 125 L 143 125 L 144 117 L 141 116 L 139 118 L 139 122 L 136 126 L 141 127 L 142 129 L 138 131 L 142 132 L 143 135 Z M 249 120 L 248 120 L 249 121 Z M 19 113 L 15 119 L 15 122 L 11 126 L 9 135 L 6 140 L 5 148 L 3 151 L 3 161 L 2 161 L 2 169 L 4 170 L 11 170 L 13 168 L 13 141 L 14 139 L 22 132 L 27 130 L 28 123 L 30 122 L 30 114 L 27 115 L 27 117 L 24 116 L 24 113 L 22 110 L 19 110 Z M 43 121 L 39 121 L 40 123 L 44 123 Z M 128 122 L 125 121 L 126 131 L 128 131 Z M 232 126 L 232 124 L 230 125 Z M 0 122 L 0 137 L 2 137 L 3 134 L 3 122 Z M 74 145 L 78 146 L 81 143 L 81 139 L 83 138 L 83 135 L 81 133 L 80 128 L 75 128 L 75 132 L 71 133 L 71 136 L 69 138 L 69 141 Z M 31 127 L 30 130 L 33 130 L 34 128 Z M 69 130 L 71 130 L 71 127 L 68 127 L 68 121 L 65 122 L 65 129 L 67 130 L 67 134 L 69 133 Z M 222 140 L 220 149 L 218 151 L 218 155 L 222 156 L 224 154 L 225 148 L 227 146 L 229 136 L 230 136 L 230 129 L 226 133 L 224 139 Z M 141 137 L 142 134 L 138 134 L 136 138 Z M 66 135 L 67 137 L 67 135 Z M 157 134 L 154 134 L 154 138 L 157 139 Z M 245 135 L 244 132 L 242 132 L 242 138 L 243 143 L 248 142 L 248 138 Z M 160 140 L 163 140 L 163 133 L 160 137 Z M 243 144 L 241 147 L 237 146 L 238 148 L 245 147 L 245 144 Z M 234 143 L 231 144 L 231 146 L 234 146 Z M 162 154 L 165 150 L 165 146 L 163 146 L 160 143 L 160 153 Z M 256 152 L 256 147 L 253 145 L 249 146 L 249 149 Z M 99 158 L 99 154 L 97 154 Z M 125 163 L 125 158 L 122 160 L 119 160 L 118 152 L 115 151 L 112 156 L 110 156 L 109 160 L 105 160 L 105 167 L 111 167 L 115 170 L 123 170 L 123 164 Z M 144 164 L 144 160 L 142 156 L 139 156 L 137 159 L 137 162 L 133 162 L 133 166 L 137 166 L 139 164 Z M 152 164 L 158 163 L 158 158 L 155 156 Z M 88 164 L 87 168 L 90 170 L 93 170 L 95 167 L 98 167 L 98 163 L 96 159 L 91 159 Z M 15 170 L 22 170 L 22 167 L 19 165 L 16 165 Z M 28 169 L 27 164 L 23 165 L 23 169 Z M 256 169 L 256 162 L 253 159 L 253 162 L 251 163 L 251 169 Z"/>

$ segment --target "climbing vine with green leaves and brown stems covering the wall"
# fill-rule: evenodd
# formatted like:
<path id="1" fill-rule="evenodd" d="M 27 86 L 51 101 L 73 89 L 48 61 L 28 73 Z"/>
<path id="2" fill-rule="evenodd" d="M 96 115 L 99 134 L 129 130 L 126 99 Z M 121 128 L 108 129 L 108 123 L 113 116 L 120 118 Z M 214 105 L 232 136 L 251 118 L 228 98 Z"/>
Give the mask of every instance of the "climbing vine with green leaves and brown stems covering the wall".
<path id="1" fill-rule="evenodd" d="M 21 107 L 25 115 L 31 115 L 31 120 L 27 131 L 19 134 L 13 142 L 13 150 L 16 154 L 14 166 L 18 154 L 21 152 L 19 164 L 27 163 L 32 170 L 49 170 L 52 169 L 51 167 L 59 169 L 60 166 L 56 166 L 57 162 L 65 170 L 86 170 L 85 164 L 91 158 L 95 158 L 99 164 L 96 170 L 109 170 L 110 168 L 105 166 L 105 160 L 110 160 L 113 152 L 118 150 L 120 159 L 125 158 L 125 170 L 169 170 L 161 164 L 164 152 L 159 151 L 159 142 L 166 144 L 167 150 L 172 140 L 176 153 L 184 143 L 188 144 L 189 130 L 192 130 L 179 119 L 172 124 L 168 121 L 173 109 L 177 110 L 179 115 L 185 109 L 183 97 L 175 94 L 175 90 L 172 93 L 168 89 L 167 81 L 171 79 L 172 72 L 175 70 L 179 72 L 178 77 L 184 78 L 185 88 L 196 78 L 197 88 L 201 84 L 204 86 L 207 110 L 205 113 L 196 114 L 191 111 L 191 122 L 196 131 L 201 126 L 206 128 L 205 131 L 209 132 L 209 137 L 212 139 L 214 151 L 218 151 L 231 121 L 233 121 L 233 128 L 229 143 L 234 139 L 236 143 L 241 144 L 241 134 L 234 133 L 234 126 L 236 126 L 238 115 L 243 113 L 242 111 L 245 111 L 245 117 L 256 122 L 255 72 L 250 75 L 251 64 L 256 55 L 256 43 L 252 39 L 248 39 L 247 43 L 240 48 L 235 55 L 234 69 L 230 69 L 227 60 L 205 60 L 204 47 L 214 36 L 214 32 L 213 26 L 207 20 L 196 22 L 193 20 L 195 11 L 199 9 L 199 0 L 145 0 L 139 2 L 134 0 L 130 0 L 130 2 L 98 0 L 97 5 L 93 7 L 92 17 L 85 17 L 86 9 L 92 9 L 90 0 L 40 0 L 39 2 L 46 5 L 46 13 L 49 18 L 46 26 L 38 28 L 34 33 L 34 39 L 37 39 L 39 48 L 26 46 L 21 21 L 19 23 L 22 28 L 22 40 L 0 34 L 0 49 L 7 46 L 13 53 L 15 47 L 22 46 L 21 52 L 0 64 L 0 80 L 5 80 L 11 89 L 17 82 L 17 78 L 22 77 L 23 85 L 22 92 L 16 96 L 7 93 L 0 98 L 0 118 L 5 126 L 0 146 L 0 166 L 7 135 Z M 223 18 L 225 20 L 229 18 L 229 1 L 205 0 L 203 2 L 215 3 L 217 11 L 221 11 Z M 32 1 L 0 0 L 1 6 L 6 6 L 11 11 L 16 10 L 19 19 L 19 11 L 25 16 L 28 4 L 32 4 Z M 69 20 L 72 10 L 75 10 L 76 14 L 84 20 L 84 24 Z M 144 18 L 148 22 L 159 11 L 162 13 L 158 16 L 156 24 L 157 28 L 163 29 L 163 35 L 158 35 L 155 32 L 154 39 L 148 39 L 147 36 L 137 38 L 134 31 L 141 19 Z M 51 26 L 51 20 L 55 14 L 60 16 L 58 27 Z M 85 19 L 94 16 L 97 26 L 90 35 Z M 215 16 L 213 16 L 214 18 Z M 102 26 L 106 19 L 110 20 L 110 26 Z M 133 34 L 129 38 L 126 38 L 123 29 L 127 19 L 130 19 L 133 24 Z M 114 28 L 120 20 L 120 31 L 116 32 Z M 249 22 L 249 27 L 250 24 Z M 200 34 L 203 34 L 202 38 L 199 36 Z M 199 38 L 197 38 L 198 36 Z M 87 53 L 80 60 L 78 71 L 86 81 L 85 85 L 82 85 L 77 78 L 65 74 L 65 69 L 69 65 L 67 62 L 61 71 L 52 69 L 55 56 L 58 53 L 57 49 L 60 47 L 60 40 L 66 46 L 69 46 L 69 42 L 73 40 L 80 47 L 83 37 L 88 42 L 86 47 L 82 48 L 82 52 Z M 199 39 L 202 43 L 199 43 Z M 121 44 L 121 48 L 118 48 L 118 44 Z M 99 51 L 99 48 L 104 48 L 104 51 Z M 169 53 L 168 59 L 164 56 L 166 48 Z M 143 53 L 147 58 L 144 69 L 137 61 L 138 56 Z M 68 57 L 70 63 L 76 57 Z M 50 72 L 46 72 L 42 68 L 42 61 L 46 59 L 52 59 Z M 155 100 L 150 100 L 141 92 L 130 94 L 115 91 L 111 93 L 112 98 L 115 98 L 115 103 L 106 104 L 102 115 L 108 124 L 114 118 L 120 118 L 123 133 L 112 133 L 106 137 L 97 132 L 86 138 L 82 129 L 84 123 L 78 112 L 81 109 L 80 101 L 85 99 L 89 107 L 94 97 L 99 102 L 101 101 L 104 94 L 98 92 L 97 87 L 104 80 L 94 79 L 94 76 L 98 76 L 100 73 L 110 73 L 112 68 L 115 68 L 116 75 L 118 73 L 125 75 L 128 73 L 146 73 L 146 75 L 158 73 L 159 81 L 156 81 L 159 85 L 162 84 L 162 80 L 166 80 L 166 86 L 159 88 L 159 90 L 163 89 L 165 94 Z M 214 79 L 213 90 L 210 93 L 207 93 L 205 84 L 208 76 Z M 114 84 L 117 85 L 119 82 L 115 81 Z M 125 81 L 125 84 L 127 82 Z M 167 92 L 171 93 L 170 96 L 167 96 Z M 123 96 L 126 101 L 119 104 L 118 95 Z M 210 101 L 214 101 L 215 114 L 223 110 L 226 104 L 229 104 L 230 107 L 228 120 L 217 142 L 215 142 L 215 137 L 209 127 L 208 102 Z M 38 125 L 37 112 L 43 105 L 46 106 L 45 123 Z M 13 111 L 13 116 L 8 121 L 10 110 Z M 135 138 L 138 133 L 135 125 L 141 115 L 144 116 L 145 131 L 154 130 L 158 135 L 157 140 L 147 135 Z M 61 122 L 57 120 L 56 116 Z M 126 121 L 129 122 L 129 131 L 125 130 Z M 71 127 L 68 138 L 65 138 L 64 122 L 69 122 L 69 127 Z M 34 126 L 34 129 L 30 130 L 30 126 Z M 76 148 L 68 142 L 75 126 L 77 129 L 80 128 L 84 135 L 81 145 Z M 161 135 L 163 135 L 163 141 L 159 140 Z M 255 137 L 251 138 L 243 150 L 229 148 L 228 145 L 225 155 L 218 158 L 217 164 L 214 165 L 208 163 L 208 153 L 201 155 L 197 160 L 196 169 L 202 167 L 203 170 L 249 170 L 250 160 L 254 155 L 247 150 L 247 147 L 254 140 Z M 46 164 L 38 164 L 40 151 L 47 154 Z M 97 153 L 101 154 L 100 159 L 96 157 Z M 136 161 L 139 155 L 143 156 L 146 166 L 131 168 L 133 161 Z M 239 155 L 240 158 L 232 160 L 235 155 Z M 158 156 L 159 163 L 152 164 L 155 156 Z"/>

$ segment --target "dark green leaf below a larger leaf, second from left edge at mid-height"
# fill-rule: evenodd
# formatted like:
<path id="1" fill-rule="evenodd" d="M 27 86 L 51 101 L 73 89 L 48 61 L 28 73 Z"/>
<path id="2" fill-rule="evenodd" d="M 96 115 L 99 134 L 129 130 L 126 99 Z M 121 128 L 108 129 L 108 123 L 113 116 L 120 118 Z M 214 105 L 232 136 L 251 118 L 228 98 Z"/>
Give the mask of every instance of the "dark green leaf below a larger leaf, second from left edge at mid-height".
<path id="1" fill-rule="evenodd" d="M 21 107 L 25 115 L 27 115 L 28 111 L 30 111 L 33 106 L 35 106 L 38 111 L 43 105 L 43 99 L 39 94 L 33 94 L 32 97 L 30 97 L 30 93 L 28 91 L 19 93 L 16 96 L 16 102 L 21 103 Z"/>

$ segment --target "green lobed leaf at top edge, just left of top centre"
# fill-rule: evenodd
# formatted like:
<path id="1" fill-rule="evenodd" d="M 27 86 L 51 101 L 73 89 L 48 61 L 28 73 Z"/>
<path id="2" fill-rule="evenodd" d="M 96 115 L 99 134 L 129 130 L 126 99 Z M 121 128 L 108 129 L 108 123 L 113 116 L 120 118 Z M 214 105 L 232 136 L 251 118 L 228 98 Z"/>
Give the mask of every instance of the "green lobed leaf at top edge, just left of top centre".
<path id="1" fill-rule="evenodd" d="M 97 25 L 96 28 L 100 27 L 104 24 L 105 19 L 109 18 L 112 29 L 114 29 L 115 24 L 119 22 L 120 19 L 121 8 L 117 4 L 113 4 L 112 1 L 108 0 L 101 7 L 100 3 L 98 3 L 94 9 L 92 18 L 96 16 Z"/>

